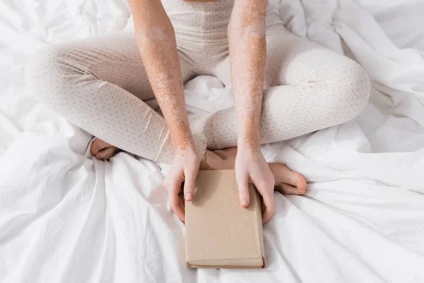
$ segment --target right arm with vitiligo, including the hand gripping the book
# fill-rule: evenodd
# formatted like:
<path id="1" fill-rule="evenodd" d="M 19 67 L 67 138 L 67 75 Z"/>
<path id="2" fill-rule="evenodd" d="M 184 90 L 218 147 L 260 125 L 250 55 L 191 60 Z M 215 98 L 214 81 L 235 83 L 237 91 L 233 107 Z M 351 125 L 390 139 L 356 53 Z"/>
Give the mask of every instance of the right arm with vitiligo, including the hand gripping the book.
<path id="1" fill-rule="evenodd" d="M 259 132 L 266 60 L 266 4 L 266 0 L 235 0 L 228 24 L 238 131 L 235 177 L 240 205 L 249 204 L 247 183 L 250 180 L 263 197 L 264 222 L 269 221 L 275 210 L 275 180 L 261 154 Z"/>

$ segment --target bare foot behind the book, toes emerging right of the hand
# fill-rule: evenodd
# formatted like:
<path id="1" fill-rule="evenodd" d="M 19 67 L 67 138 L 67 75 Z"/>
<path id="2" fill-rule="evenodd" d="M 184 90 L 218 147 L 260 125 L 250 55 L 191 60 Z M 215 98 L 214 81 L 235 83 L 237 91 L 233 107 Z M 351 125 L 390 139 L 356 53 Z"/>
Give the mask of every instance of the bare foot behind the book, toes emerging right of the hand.
<path id="1" fill-rule="evenodd" d="M 201 160 L 201 170 L 234 169 L 237 147 L 210 151 L 206 149 L 204 158 Z M 281 163 L 269 163 L 275 181 L 275 190 L 283 195 L 304 195 L 306 180 L 298 172 Z"/>

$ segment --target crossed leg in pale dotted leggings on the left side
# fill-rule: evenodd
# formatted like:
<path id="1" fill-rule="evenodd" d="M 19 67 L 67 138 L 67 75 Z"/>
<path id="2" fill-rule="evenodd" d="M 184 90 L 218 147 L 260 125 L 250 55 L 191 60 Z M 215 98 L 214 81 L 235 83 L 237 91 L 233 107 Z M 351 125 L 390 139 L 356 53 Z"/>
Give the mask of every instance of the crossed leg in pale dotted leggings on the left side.
<path id="1" fill-rule="evenodd" d="M 182 54 L 179 61 L 183 80 L 191 79 L 191 65 Z M 134 33 L 47 47 L 28 64 L 25 76 L 42 103 L 95 137 L 156 162 L 172 160 L 165 120 L 143 102 L 154 95 Z M 204 151 L 204 141 L 194 139 Z"/>

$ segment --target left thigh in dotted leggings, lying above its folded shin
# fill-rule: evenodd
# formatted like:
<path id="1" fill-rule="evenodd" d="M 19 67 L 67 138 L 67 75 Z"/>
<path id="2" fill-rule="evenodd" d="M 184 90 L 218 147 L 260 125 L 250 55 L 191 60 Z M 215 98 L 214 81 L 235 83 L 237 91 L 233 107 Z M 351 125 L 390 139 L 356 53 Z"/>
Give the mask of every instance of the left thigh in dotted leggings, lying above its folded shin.
<path id="1" fill-rule="evenodd" d="M 136 37 L 132 31 L 98 35 L 54 46 L 54 53 L 66 67 L 66 74 L 90 74 L 113 83 L 146 100 L 154 97 L 144 69 Z M 179 52 L 182 79 L 194 76 L 192 65 Z"/>

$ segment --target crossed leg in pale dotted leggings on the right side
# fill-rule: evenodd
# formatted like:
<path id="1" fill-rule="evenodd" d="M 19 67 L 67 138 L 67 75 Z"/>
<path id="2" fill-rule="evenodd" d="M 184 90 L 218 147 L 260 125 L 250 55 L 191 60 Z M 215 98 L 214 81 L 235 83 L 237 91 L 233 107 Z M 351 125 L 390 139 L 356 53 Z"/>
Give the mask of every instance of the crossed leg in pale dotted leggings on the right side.
<path id="1" fill-rule="evenodd" d="M 359 64 L 283 27 L 267 30 L 261 143 L 298 137 L 347 122 L 367 104 L 370 81 Z M 212 70 L 230 84 L 228 59 Z M 209 149 L 237 146 L 235 109 L 207 122 Z"/>

